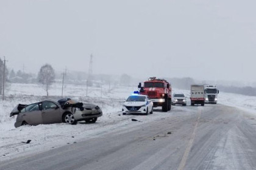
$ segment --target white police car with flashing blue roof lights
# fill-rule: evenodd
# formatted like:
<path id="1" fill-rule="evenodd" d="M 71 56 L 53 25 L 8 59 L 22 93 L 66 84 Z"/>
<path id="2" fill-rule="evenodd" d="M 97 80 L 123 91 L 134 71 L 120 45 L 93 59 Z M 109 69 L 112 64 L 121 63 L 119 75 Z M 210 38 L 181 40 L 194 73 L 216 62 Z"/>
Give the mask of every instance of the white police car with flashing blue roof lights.
<path id="1" fill-rule="evenodd" d="M 148 95 L 140 95 L 136 92 L 130 95 L 123 104 L 123 115 L 126 114 L 153 114 L 153 102 Z"/>

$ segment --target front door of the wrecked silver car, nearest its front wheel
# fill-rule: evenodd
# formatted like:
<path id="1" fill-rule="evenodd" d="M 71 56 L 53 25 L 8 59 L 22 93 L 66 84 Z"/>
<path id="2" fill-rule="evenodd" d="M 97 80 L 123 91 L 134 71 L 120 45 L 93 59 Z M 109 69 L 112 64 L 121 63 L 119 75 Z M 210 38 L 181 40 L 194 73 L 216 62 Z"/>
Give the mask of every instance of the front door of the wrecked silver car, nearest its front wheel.
<path id="1" fill-rule="evenodd" d="M 62 115 L 60 114 L 60 107 L 52 101 L 43 101 L 42 106 L 42 118 L 44 124 L 49 123 L 61 123 Z"/>

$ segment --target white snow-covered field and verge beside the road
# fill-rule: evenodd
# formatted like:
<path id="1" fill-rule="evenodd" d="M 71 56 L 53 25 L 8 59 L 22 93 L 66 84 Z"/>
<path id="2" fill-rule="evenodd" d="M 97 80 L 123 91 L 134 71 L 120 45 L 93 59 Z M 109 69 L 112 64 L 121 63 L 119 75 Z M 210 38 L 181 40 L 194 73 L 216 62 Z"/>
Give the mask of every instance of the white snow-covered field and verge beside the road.
<path id="1" fill-rule="evenodd" d="M 87 90 L 86 86 L 68 84 L 64 88 L 64 97 L 94 103 L 102 108 L 103 116 L 96 123 L 40 124 L 15 128 L 13 124 L 16 117 L 9 117 L 13 107 L 18 103 L 30 104 L 44 100 L 46 92 L 38 84 L 12 84 L 5 92 L 5 100 L 0 101 L 0 161 L 76 143 L 110 131 L 117 133 L 129 131 L 129 127 L 138 124 L 137 121 L 131 121 L 131 118 L 142 121 L 140 123 L 146 123 L 171 116 L 171 114 L 157 112 L 157 110 L 154 112 L 157 114 L 148 116 L 122 115 L 120 111 L 123 101 L 134 90 L 137 90 L 136 86 L 89 87 Z M 190 97 L 189 90 L 174 89 L 174 92 L 183 92 L 188 98 Z M 51 97 L 60 97 L 61 94 L 61 84 L 54 84 L 49 90 Z M 218 102 L 256 115 L 256 97 L 220 92 Z M 174 106 L 173 109 L 176 107 Z M 186 107 L 179 107 L 179 109 L 186 109 Z M 31 140 L 29 144 L 26 144 L 27 140 Z"/>

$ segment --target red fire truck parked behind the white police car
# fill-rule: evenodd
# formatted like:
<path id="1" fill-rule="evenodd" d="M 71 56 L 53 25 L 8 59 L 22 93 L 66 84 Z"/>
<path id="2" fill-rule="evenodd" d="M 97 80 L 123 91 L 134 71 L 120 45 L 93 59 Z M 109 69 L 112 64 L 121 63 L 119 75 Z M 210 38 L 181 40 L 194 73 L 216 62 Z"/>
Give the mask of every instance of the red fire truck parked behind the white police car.
<path id="1" fill-rule="evenodd" d="M 154 103 L 154 107 L 162 106 L 162 111 L 171 110 L 171 84 L 164 79 L 155 77 L 144 81 L 143 85 L 139 83 L 140 94 L 148 95 Z"/>

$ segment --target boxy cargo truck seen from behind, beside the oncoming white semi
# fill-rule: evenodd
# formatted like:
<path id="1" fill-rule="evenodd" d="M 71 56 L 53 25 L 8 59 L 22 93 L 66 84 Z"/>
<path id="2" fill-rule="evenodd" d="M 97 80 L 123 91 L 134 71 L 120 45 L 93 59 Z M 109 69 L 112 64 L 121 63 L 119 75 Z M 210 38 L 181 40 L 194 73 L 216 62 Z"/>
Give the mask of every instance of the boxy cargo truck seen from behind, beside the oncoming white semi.
<path id="1" fill-rule="evenodd" d="M 204 101 L 205 101 L 204 85 L 197 85 L 197 84 L 191 85 L 190 100 L 191 100 L 191 106 L 194 106 L 194 104 L 201 104 L 201 106 L 204 106 Z"/>

